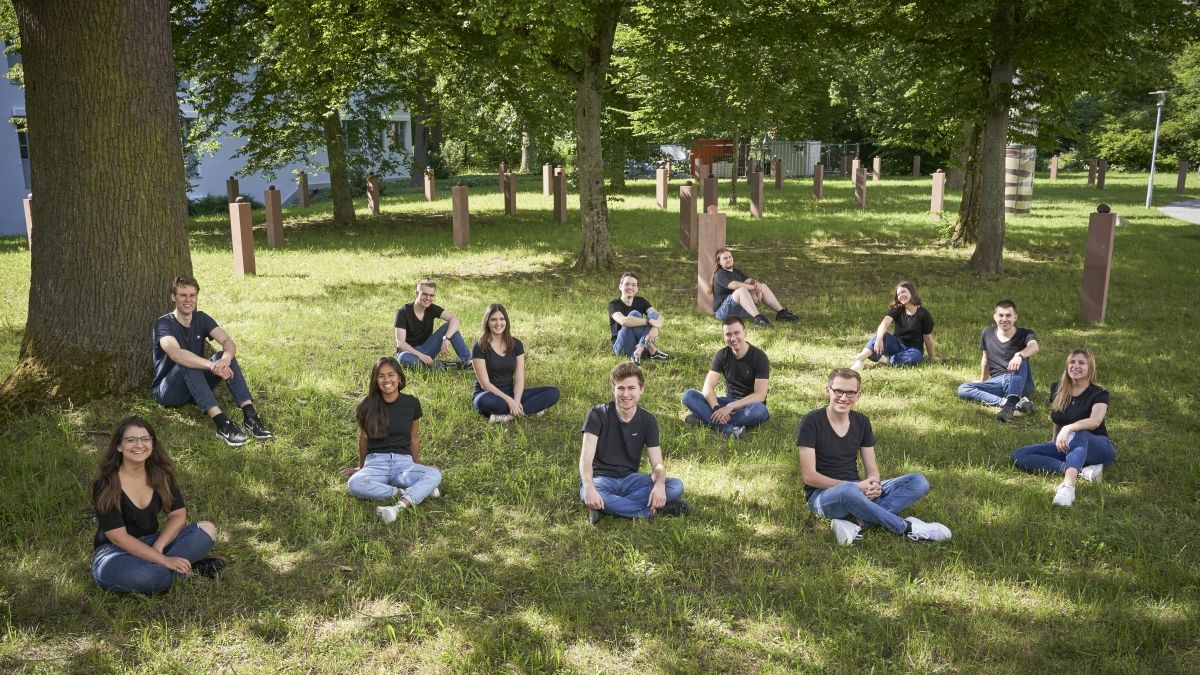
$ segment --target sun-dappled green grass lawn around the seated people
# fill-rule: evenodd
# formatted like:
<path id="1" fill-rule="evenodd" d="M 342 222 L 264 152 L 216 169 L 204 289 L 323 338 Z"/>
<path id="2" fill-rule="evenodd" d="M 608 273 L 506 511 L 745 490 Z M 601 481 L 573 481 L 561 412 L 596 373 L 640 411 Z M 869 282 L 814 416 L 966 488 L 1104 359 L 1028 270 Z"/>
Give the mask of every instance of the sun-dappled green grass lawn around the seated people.
<path id="1" fill-rule="evenodd" d="M 1174 198 L 1163 177 L 1157 203 Z M 577 497 L 578 428 L 607 400 L 605 304 L 617 273 L 571 269 L 577 205 L 551 223 L 540 177 L 522 179 L 518 215 L 494 180 L 475 181 L 472 244 L 451 245 L 449 181 L 427 204 L 395 190 L 384 213 L 336 229 L 328 205 L 292 209 L 287 246 L 236 279 L 227 225 L 192 225 L 192 257 L 212 313 L 277 430 L 224 447 L 193 408 L 144 396 L 18 419 L 0 476 L 0 669 L 6 671 L 1194 671 L 1200 658 L 1196 301 L 1200 229 L 1140 207 L 1144 178 L 1110 175 L 1104 201 L 1129 217 L 1115 244 L 1108 321 L 1076 319 L 1087 214 L 1080 174 L 1034 187 L 1009 221 L 1006 274 L 966 271 L 970 250 L 931 241 L 928 178 L 846 181 L 814 203 L 808 181 L 767 186 L 767 217 L 730 209 L 739 267 L 767 280 L 802 322 L 751 329 L 772 358 L 772 419 L 728 442 L 683 424 L 720 347 L 695 311 L 695 259 L 676 243 L 677 202 L 654 209 L 650 181 L 611 198 L 618 267 L 637 270 L 667 316 L 673 358 L 648 369 L 642 404 L 664 431 L 668 472 L 694 514 L 589 526 Z M 676 181 L 678 185 L 679 181 Z M 727 184 L 722 184 L 722 191 Z M 674 190 L 672 190 L 674 192 Z M 1194 192 L 1193 192 L 1194 195 Z M 955 197 L 956 199 L 956 197 Z M 950 199 L 949 209 L 956 207 Z M 324 210 L 323 210 L 324 209 Z M 557 384 L 545 417 L 505 426 L 469 408 L 467 374 L 410 375 L 425 407 L 422 458 L 445 473 L 440 500 L 385 526 L 350 497 L 338 468 L 355 453 L 353 407 L 391 321 L 422 275 L 464 317 L 504 303 L 527 348 L 528 382 Z M 17 360 L 29 255 L 0 240 L 0 372 Z M 914 281 L 937 322 L 941 362 L 865 374 L 886 476 L 922 471 L 912 509 L 950 542 L 878 531 L 850 549 L 808 514 L 796 467 L 800 416 L 824 375 L 850 363 L 894 283 Z M 1039 402 L 1079 345 L 1112 392 L 1117 464 L 1075 506 L 1055 482 L 1016 472 L 1009 453 L 1049 437 L 1045 406 L 1001 425 L 959 401 L 978 372 L 979 329 L 1012 297 L 1034 328 Z M 162 311 L 168 309 L 164 298 Z M 148 327 L 149 331 L 149 327 Z M 224 399 L 222 399 L 224 400 Z M 114 422 L 157 425 L 181 471 L 192 519 L 221 530 L 235 563 L 154 598 L 107 595 L 90 578 L 95 530 L 84 486 Z"/>

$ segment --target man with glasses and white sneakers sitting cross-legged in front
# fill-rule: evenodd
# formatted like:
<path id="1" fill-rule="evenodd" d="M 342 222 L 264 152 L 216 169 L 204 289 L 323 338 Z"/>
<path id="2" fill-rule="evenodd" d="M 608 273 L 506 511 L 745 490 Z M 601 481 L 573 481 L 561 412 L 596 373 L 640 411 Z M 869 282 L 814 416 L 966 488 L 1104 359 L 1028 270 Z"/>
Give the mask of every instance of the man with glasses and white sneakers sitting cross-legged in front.
<path id="1" fill-rule="evenodd" d="M 832 519 L 834 537 L 845 546 L 860 539 L 866 525 L 914 542 L 949 539 L 950 530 L 940 522 L 898 515 L 929 492 L 929 480 L 920 473 L 880 479 L 871 420 L 853 410 L 862 382 L 848 368 L 832 371 L 826 386 L 829 405 L 800 419 L 796 444 L 809 510 Z M 866 478 L 859 477 L 859 458 Z"/>

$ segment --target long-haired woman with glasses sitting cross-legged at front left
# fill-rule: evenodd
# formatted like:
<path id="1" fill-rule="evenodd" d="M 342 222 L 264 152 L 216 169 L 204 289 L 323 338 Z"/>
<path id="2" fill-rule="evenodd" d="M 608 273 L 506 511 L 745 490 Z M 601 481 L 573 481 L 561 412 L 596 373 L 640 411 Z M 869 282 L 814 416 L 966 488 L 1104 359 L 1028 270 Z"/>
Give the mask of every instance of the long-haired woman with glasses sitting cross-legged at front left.
<path id="1" fill-rule="evenodd" d="M 97 522 L 91 575 L 106 591 L 156 593 L 192 573 L 216 577 L 229 562 L 209 555 L 216 526 L 187 522 L 175 467 L 140 417 L 116 425 L 89 494 Z"/>

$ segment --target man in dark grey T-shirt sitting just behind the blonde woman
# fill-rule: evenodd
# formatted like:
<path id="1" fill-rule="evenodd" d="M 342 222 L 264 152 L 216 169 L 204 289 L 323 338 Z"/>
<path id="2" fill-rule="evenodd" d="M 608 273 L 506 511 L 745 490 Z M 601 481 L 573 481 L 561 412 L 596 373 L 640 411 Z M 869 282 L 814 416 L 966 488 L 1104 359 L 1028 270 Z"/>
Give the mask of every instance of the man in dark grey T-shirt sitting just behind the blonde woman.
<path id="1" fill-rule="evenodd" d="M 1010 422 L 1014 412 L 1030 414 L 1033 402 L 1033 370 L 1030 358 L 1038 353 L 1038 336 L 1028 328 L 1016 327 L 1016 304 L 996 303 L 992 315 L 996 328 L 984 328 L 979 334 L 979 382 L 959 386 L 959 398 L 1001 406 L 996 419 Z"/>

